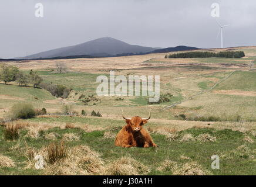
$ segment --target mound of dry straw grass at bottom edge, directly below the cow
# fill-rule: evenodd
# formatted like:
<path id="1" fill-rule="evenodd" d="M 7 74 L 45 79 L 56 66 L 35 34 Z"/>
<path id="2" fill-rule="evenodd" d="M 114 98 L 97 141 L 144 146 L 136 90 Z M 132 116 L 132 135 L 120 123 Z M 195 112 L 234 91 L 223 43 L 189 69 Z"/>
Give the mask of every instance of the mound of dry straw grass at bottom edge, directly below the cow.
<path id="1" fill-rule="evenodd" d="M 145 165 L 127 156 L 109 162 L 105 168 L 106 175 L 146 175 L 149 172 Z"/>

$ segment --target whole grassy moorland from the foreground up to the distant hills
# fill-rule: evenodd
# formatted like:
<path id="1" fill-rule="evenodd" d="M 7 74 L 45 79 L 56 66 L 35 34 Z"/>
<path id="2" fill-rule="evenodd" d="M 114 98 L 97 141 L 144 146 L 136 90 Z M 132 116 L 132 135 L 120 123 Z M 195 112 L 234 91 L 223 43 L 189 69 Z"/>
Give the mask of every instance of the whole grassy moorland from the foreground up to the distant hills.
<path id="1" fill-rule="evenodd" d="M 8 119 L 15 103 L 31 103 L 35 109 L 46 108 L 48 112 L 13 122 L 21 124 L 17 140 L 5 140 L 6 123 L 0 125 L 0 174 L 255 175 L 256 70 L 255 61 L 251 62 L 256 59 L 256 47 L 211 51 L 225 50 L 245 51 L 245 57 L 166 59 L 163 53 L 9 62 L 25 73 L 33 67 L 44 82 L 73 90 L 63 99 L 16 82 L 0 84 L 0 121 Z M 54 71 L 59 61 L 69 72 Z M 108 77 L 110 70 L 125 76 L 160 75 L 160 94 L 172 96 L 167 102 L 152 105 L 149 96 L 97 96 L 96 78 Z M 79 99 L 92 94 L 97 102 L 85 105 Z M 60 115 L 65 105 L 72 105 L 78 116 Z M 144 128 L 160 147 L 115 147 L 114 137 L 125 125 L 121 109 L 127 117 L 146 117 L 149 108 L 151 119 Z M 82 110 L 86 116 L 80 115 Z M 92 110 L 102 117 L 91 117 Z M 75 128 L 66 129 L 66 123 Z M 69 156 L 50 164 L 47 147 L 61 140 L 69 147 Z M 35 169 L 31 153 L 43 155 L 45 169 Z M 220 169 L 211 168 L 212 155 L 220 157 Z"/>

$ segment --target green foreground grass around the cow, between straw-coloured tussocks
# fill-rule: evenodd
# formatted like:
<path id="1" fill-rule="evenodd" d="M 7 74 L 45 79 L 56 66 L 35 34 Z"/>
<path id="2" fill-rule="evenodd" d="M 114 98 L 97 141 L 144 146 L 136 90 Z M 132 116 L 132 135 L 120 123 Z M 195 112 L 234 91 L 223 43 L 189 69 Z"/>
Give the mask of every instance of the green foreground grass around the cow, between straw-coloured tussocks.
<path id="1" fill-rule="evenodd" d="M 97 117 L 96 117 L 97 120 Z M 93 122 L 91 122 L 93 123 Z M 65 134 L 76 134 L 79 140 L 67 141 L 70 148 L 79 145 L 89 146 L 90 149 L 100 154 L 103 159 L 103 167 L 107 163 L 118 160 L 122 157 L 136 158 L 140 164 L 149 168 L 149 175 L 172 175 L 177 171 L 167 169 L 164 171 L 158 168 L 162 166 L 165 160 L 176 162 L 182 168 L 183 165 L 196 161 L 196 169 L 202 169 L 203 174 L 212 175 L 255 175 L 255 144 L 245 141 L 245 136 L 255 141 L 255 136 L 240 131 L 215 130 L 208 128 L 192 128 L 177 133 L 177 138 L 172 140 L 169 134 L 163 135 L 163 132 L 152 132 L 154 141 L 159 144 L 159 148 L 120 148 L 115 147 L 114 137 L 105 138 L 105 131 L 111 131 L 116 134 L 119 128 L 109 128 L 106 130 L 86 131 L 84 129 L 60 129 L 53 127 L 41 131 L 39 137 L 28 136 L 28 130 L 20 130 L 20 138 L 16 141 L 5 141 L 3 138 L 4 127 L 0 127 L 0 151 L 3 155 L 14 160 L 16 167 L 0 168 L 2 175 L 40 175 L 47 170 L 37 170 L 33 165 L 28 167 L 28 158 L 26 157 L 26 146 L 41 150 L 52 141 L 60 141 Z M 45 138 L 46 134 L 54 133 L 56 140 Z M 184 134 L 191 134 L 194 140 L 181 141 Z M 215 137 L 215 141 L 202 139 L 200 134 L 208 134 Z M 239 147 L 244 148 L 239 148 Z M 200 154 L 198 154 L 200 153 Z M 211 169 L 211 155 L 220 155 L 220 169 Z M 72 163 L 70 163 L 72 164 Z M 184 174 L 188 171 L 180 171 Z M 46 173 L 47 174 L 47 173 Z M 100 172 L 98 173 L 100 174 Z M 139 173 L 142 174 L 142 173 Z M 196 173 L 197 174 L 197 173 Z"/>

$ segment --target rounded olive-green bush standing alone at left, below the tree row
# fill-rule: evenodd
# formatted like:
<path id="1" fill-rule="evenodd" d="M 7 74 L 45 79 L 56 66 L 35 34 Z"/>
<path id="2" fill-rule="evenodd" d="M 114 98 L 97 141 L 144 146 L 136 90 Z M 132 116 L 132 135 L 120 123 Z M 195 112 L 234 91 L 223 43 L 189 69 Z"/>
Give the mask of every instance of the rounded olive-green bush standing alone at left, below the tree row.
<path id="1" fill-rule="evenodd" d="M 29 119 L 35 117 L 36 112 L 31 104 L 17 103 L 11 108 L 11 117 L 13 119 Z"/>

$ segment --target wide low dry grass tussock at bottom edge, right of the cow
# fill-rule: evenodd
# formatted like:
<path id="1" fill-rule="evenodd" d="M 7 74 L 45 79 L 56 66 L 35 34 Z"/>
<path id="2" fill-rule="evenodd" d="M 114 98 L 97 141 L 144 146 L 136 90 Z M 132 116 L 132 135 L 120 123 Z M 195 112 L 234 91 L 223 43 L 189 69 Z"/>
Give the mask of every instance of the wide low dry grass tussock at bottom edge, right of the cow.
<path id="1" fill-rule="evenodd" d="M 211 175 L 195 161 L 187 162 L 186 164 L 178 164 L 177 162 L 165 160 L 161 162 L 159 171 L 171 171 L 173 175 Z"/>

